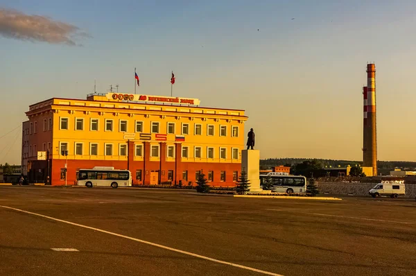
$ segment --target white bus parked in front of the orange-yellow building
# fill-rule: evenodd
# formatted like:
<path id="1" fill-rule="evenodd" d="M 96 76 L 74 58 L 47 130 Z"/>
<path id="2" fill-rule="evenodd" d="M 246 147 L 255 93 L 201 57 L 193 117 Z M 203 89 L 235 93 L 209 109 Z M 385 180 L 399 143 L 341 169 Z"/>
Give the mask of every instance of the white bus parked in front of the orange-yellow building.
<path id="1" fill-rule="evenodd" d="M 94 167 L 80 169 L 77 185 L 92 187 L 131 187 L 132 174 L 128 170 L 114 170 L 114 167 Z"/>

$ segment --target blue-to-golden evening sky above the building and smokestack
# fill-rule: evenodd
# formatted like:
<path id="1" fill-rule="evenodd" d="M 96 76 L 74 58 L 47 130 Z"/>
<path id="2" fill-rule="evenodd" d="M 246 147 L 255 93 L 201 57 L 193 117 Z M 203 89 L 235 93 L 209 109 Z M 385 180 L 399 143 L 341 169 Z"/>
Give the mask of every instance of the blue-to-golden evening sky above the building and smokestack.
<path id="1" fill-rule="evenodd" d="M 261 158 L 362 160 L 367 62 L 378 159 L 416 161 L 415 15 L 415 1 L 0 0 L 0 164 L 20 164 L 28 105 L 94 80 L 134 92 L 135 67 L 138 93 L 170 96 L 173 70 L 173 96 L 245 110 Z"/>

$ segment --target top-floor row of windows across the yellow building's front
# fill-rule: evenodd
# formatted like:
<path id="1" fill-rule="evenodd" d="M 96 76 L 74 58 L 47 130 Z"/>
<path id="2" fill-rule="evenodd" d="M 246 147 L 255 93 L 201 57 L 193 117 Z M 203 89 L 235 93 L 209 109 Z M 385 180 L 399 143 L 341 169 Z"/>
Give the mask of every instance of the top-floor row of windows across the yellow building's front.
<path id="1" fill-rule="evenodd" d="M 159 133 L 161 132 L 161 123 L 158 121 L 152 121 L 150 123 L 150 132 L 152 133 Z M 166 124 L 166 133 L 167 134 L 175 134 L 176 123 L 168 122 Z M 84 130 L 84 119 L 83 118 L 76 118 L 75 119 L 75 130 Z M 144 122 L 143 121 L 135 121 L 135 132 L 144 132 Z M 60 118 L 60 130 L 69 130 L 69 118 Z M 90 131 L 98 131 L 99 130 L 99 119 L 90 119 L 89 122 L 89 130 Z M 113 119 L 105 119 L 104 124 L 105 131 L 114 131 L 114 120 Z M 119 120 L 119 132 L 128 132 L 128 121 L 127 120 Z M 202 124 L 196 123 L 193 128 L 193 135 L 202 135 Z M 182 135 L 189 135 L 189 123 L 182 123 L 181 124 L 181 131 Z M 214 125 L 207 125 L 206 133 L 208 136 L 215 135 L 215 126 Z M 220 126 L 219 128 L 219 135 L 220 136 L 227 136 L 227 126 Z M 232 137 L 239 137 L 239 126 L 232 126 Z"/>

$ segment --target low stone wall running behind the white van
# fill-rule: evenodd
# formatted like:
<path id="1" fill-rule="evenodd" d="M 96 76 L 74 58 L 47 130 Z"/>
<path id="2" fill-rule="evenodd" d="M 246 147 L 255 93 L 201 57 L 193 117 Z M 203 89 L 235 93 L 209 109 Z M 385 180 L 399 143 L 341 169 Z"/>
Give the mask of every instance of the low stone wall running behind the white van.
<path id="1" fill-rule="evenodd" d="M 343 182 L 315 182 L 319 193 L 333 195 L 369 196 L 368 191 L 376 184 L 374 183 L 343 183 Z M 406 185 L 406 198 L 416 197 L 416 184 Z"/>

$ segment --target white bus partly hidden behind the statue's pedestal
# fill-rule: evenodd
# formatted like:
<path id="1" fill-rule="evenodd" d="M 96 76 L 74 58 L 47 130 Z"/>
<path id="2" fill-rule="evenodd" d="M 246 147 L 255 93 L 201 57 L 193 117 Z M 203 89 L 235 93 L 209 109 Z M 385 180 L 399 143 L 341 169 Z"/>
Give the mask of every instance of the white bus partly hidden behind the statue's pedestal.
<path id="1" fill-rule="evenodd" d="M 271 190 L 275 193 L 306 193 L 306 178 L 302 175 L 274 173 L 260 175 L 260 184 L 270 181 Z"/>

